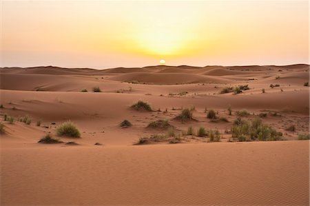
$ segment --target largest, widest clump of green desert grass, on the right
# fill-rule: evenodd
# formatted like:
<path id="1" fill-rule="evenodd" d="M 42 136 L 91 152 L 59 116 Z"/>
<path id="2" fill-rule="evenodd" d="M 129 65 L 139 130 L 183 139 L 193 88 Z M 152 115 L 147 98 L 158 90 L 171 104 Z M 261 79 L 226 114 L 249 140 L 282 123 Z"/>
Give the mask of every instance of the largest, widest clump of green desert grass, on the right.
<path id="1" fill-rule="evenodd" d="M 252 121 L 238 119 L 231 128 L 231 132 L 231 137 L 237 138 L 238 141 L 278 141 L 282 139 L 281 132 L 263 124 L 259 118 Z"/>

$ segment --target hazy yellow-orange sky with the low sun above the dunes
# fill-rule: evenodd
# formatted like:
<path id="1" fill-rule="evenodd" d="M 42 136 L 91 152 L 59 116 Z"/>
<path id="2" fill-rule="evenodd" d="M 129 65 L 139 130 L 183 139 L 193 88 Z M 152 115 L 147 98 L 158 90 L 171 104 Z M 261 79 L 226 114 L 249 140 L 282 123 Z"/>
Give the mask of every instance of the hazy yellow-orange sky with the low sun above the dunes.
<path id="1" fill-rule="evenodd" d="M 308 1 L 1 1 L 1 66 L 309 63 Z"/>

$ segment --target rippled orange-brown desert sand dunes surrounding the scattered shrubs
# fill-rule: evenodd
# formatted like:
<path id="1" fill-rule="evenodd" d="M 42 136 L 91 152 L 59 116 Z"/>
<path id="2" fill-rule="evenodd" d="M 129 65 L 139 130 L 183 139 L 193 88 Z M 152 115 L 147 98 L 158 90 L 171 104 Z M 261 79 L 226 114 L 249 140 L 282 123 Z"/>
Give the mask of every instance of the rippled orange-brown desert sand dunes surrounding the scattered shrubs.
<path id="1" fill-rule="evenodd" d="M 0 78 L 1 205 L 309 205 L 309 141 L 298 140 L 309 134 L 309 65 L 48 66 L 1 68 Z M 220 94 L 238 85 L 250 89 Z M 139 100 L 153 112 L 133 110 Z M 195 121 L 175 119 L 185 107 L 195 108 Z M 211 109 L 228 122 L 207 119 Z M 266 113 L 263 123 L 284 141 L 229 142 L 239 110 L 249 111 L 245 119 Z M 132 127 L 119 126 L 125 119 Z M 135 145 L 167 132 L 147 128 L 160 119 L 182 136 L 189 126 L 216 129 L 220 142 L 185 135 Z M 59 139 L 79 145 L 37 143 L 67 120 L 81 138 Z"/>

